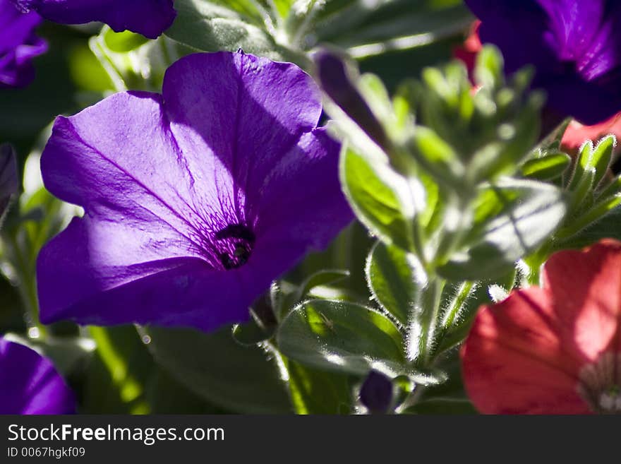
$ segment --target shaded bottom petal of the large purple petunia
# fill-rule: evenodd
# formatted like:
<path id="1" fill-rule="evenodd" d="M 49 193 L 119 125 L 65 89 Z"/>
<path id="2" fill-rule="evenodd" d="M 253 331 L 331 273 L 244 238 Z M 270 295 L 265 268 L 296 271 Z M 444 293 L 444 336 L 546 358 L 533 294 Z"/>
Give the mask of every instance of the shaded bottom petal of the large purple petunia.
<path id="1" fill-rule="evenodd" d="M 248 266 L 222 272 L 198 258 L 115 263 L 107 252 L 120 256 L 124 246 L 128 255 L 133 252 L 119 229 L 76 218 L 44 247 L 37 261 L 43 323 L 135 322 L 210 331 L 246 321 L 253 301 L 248 295 L 269 285 L 265 278 L 255 280 Z"/>

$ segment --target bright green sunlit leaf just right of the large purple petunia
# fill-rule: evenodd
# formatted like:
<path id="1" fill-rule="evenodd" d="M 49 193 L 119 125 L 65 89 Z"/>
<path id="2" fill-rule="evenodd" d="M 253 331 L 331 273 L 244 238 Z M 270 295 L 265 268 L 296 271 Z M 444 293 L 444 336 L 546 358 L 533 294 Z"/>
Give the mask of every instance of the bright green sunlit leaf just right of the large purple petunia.
<path id="1" fill-rule="evenodd" d="M 358 219 L 388 244 L 411 250 L 414 201 L 406 179 L 386 162 L 356 153 L 344 145 L 340 177 Z"/>

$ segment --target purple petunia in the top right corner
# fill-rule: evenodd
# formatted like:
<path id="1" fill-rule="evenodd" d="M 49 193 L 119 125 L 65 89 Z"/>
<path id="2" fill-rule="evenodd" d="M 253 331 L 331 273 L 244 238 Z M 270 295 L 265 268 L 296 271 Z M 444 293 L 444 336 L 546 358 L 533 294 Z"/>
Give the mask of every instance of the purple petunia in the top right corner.
<path id="1" fill-rule="evenodd" d="M 621 110 L 621 1 L 466 0 L 508 72 L 536 67 L 548 106 L 583 124 Z"/>

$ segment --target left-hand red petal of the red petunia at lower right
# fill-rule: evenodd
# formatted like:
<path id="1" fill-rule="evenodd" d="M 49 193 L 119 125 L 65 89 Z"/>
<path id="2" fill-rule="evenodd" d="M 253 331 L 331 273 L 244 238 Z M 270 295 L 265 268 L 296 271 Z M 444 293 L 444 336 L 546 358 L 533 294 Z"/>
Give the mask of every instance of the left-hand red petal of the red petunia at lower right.
<path id="1" fill-rule="evenodd" d="M 547 292 L 513 292 L 484 307 L 462 349 L 464 383 L 488 414 L 578 414 L 589 408 L 577 393 L 582 364 L 565 350 Z"/>

